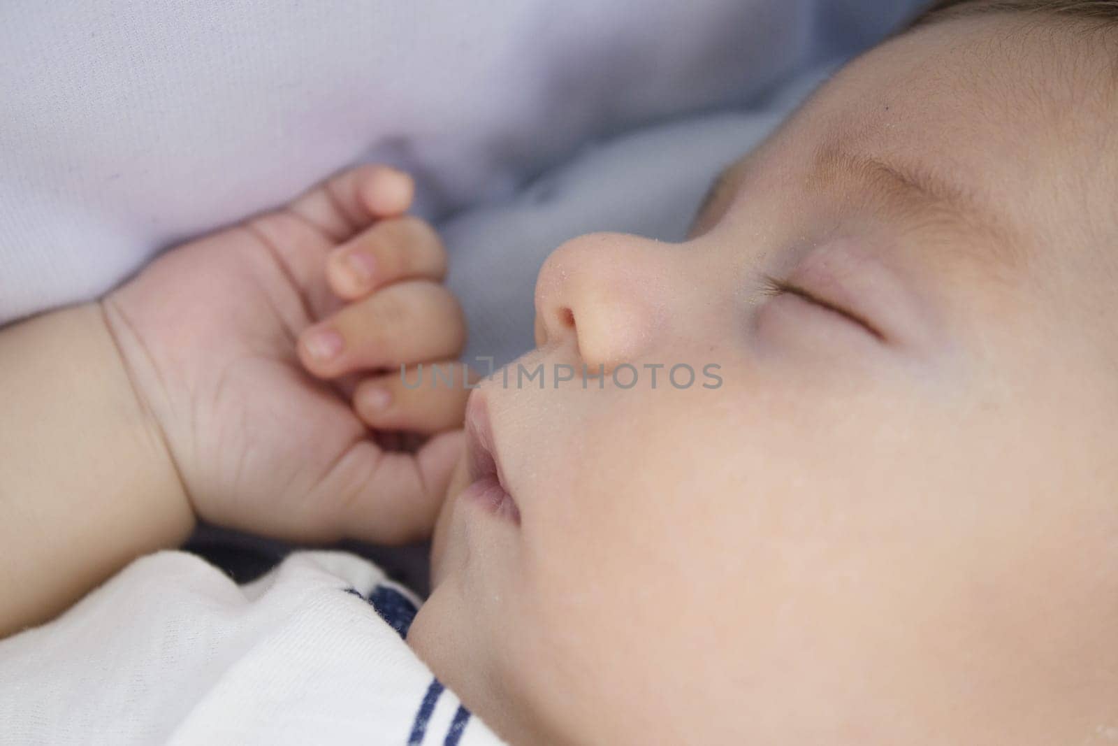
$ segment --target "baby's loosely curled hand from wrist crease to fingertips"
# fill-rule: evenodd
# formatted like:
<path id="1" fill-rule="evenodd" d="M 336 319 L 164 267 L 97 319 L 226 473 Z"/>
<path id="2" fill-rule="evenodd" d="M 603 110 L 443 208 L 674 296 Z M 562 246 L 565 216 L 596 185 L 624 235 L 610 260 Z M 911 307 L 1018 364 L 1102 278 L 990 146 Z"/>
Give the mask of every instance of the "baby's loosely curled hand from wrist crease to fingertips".
<path id="1" fill-rule="evenodd" d="M 347 171 L 103 301 L 201 519 L 303 541 L 429 532 L 462 450 L 436 433 L 461 427 L 468 390 L 461 367 L 453 387 L 400 379 L 465 337 L 437 236 L 404 216 L 411 193 L 392 169 Z M 424 442 L 389 451 L 367 425 Z"/>

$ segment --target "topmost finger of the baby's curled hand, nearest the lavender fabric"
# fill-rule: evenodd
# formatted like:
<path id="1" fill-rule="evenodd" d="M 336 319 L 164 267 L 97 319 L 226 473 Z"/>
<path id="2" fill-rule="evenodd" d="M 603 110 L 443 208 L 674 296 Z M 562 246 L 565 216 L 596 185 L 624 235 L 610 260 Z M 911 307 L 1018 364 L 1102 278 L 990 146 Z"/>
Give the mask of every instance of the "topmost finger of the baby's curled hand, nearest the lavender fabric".
<path id="1" fill-rule="evenodd" d="M 326 179 L 299 197 L 287 209 L 342 242 L 373 220 L 402 215 L 415 195 L 415 182 L 404 171 L 367 164 Z"/>

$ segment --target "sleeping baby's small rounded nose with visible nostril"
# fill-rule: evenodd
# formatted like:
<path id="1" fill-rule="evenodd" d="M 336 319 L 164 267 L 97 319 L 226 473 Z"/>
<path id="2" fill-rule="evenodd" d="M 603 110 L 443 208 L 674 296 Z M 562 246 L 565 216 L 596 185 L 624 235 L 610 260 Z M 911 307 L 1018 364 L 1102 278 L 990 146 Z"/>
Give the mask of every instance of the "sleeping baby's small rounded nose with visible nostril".
<path id="1" fill-rule="evenodd" d="M 572 336 L 582 362 L 594 369 L 647 355 L 667 320 L 672 248 L 613 233 L 557 248 L 536 282 L 536 343 Z"/>

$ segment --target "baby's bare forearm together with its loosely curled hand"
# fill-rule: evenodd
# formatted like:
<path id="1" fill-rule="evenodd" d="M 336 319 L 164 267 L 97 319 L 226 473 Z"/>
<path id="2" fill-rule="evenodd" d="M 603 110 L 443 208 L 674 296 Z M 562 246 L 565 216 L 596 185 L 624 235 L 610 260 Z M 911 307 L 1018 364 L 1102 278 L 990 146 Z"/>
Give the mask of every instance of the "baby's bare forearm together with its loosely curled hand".
<path id="1" fill-rule="evenodd" d="M 196 516 L 305 544 L 429 535 L 465 391 L 361 406 L 399 380 L 377 368 L 445 368 L 464 339 L 438 236 L 404 215 L 411 196 L 390 167 L 345 169 L 163 253 L 97 304 L 0 331 L 0 630 L 181 544 Z M 375 276 L 339 283 L 357 253 Z M 323 331 L 344 339 L 340 357 L 314 357 Z M 386 431 L 428 437 L 389 452 Z"/>

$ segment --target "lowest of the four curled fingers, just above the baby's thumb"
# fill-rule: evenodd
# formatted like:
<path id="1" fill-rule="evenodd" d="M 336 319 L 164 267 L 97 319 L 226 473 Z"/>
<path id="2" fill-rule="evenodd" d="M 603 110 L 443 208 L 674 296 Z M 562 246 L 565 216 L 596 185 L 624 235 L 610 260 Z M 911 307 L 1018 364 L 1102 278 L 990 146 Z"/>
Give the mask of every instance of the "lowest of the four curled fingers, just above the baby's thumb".
<path id="1" fill-rule="evenodd" d="M 353 393 L 353 408 L 377 429 L 438 433 L 462 427 L 467 386 L 479 380 L 468 366 L 453 360 L 419 363 L 405 371 L 366 378 Z"/>

